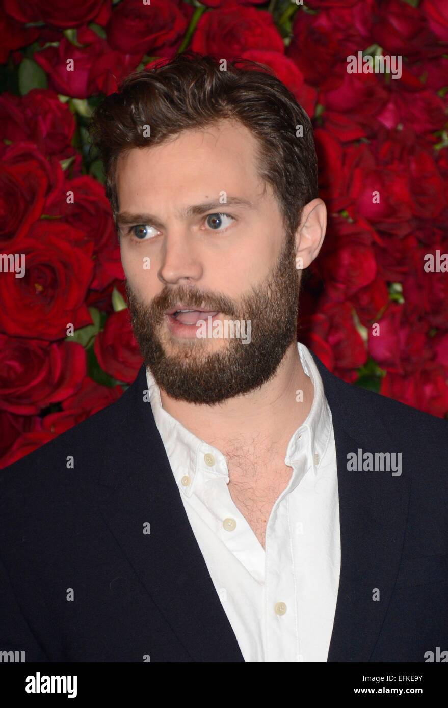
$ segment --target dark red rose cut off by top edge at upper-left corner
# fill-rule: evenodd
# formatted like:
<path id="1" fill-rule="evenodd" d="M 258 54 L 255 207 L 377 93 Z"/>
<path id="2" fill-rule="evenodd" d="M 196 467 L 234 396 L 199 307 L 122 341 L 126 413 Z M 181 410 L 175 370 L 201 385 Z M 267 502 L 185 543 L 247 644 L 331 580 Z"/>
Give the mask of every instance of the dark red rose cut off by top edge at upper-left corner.
<path id="1" fill-rule="evenodd" d="M 4 8 L 19 22 L 45 22 L 55 27 L 77 27 L 88 22 L 105 24 L 110 13 L 110 0 L 4 0 Z"/>

